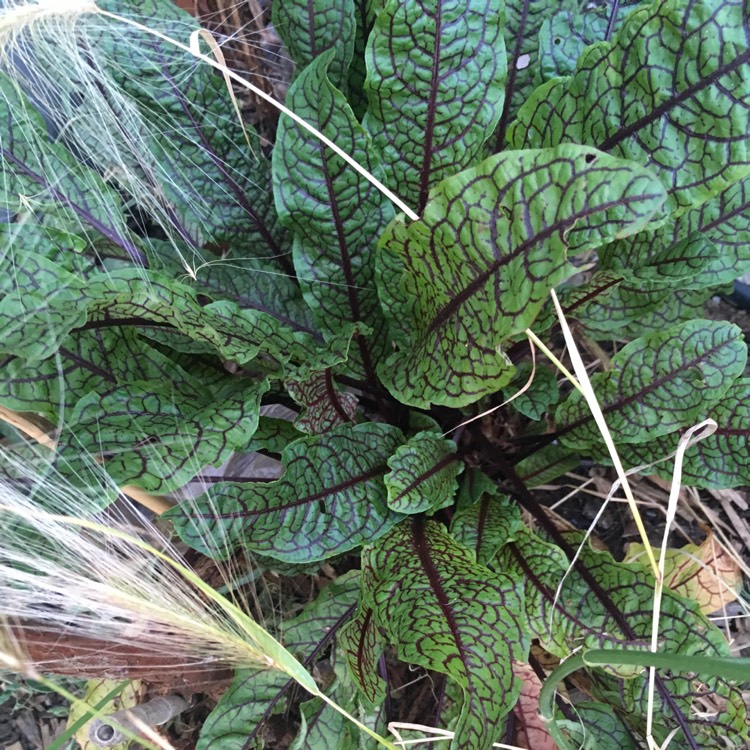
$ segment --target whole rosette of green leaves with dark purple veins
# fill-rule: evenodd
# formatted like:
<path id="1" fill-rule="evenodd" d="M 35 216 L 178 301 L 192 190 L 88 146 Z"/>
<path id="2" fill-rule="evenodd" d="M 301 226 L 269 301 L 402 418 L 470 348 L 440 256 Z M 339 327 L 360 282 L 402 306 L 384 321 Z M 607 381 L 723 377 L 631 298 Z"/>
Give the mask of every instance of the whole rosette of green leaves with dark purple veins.
<path id="1" fill-rule="evenodd" d="M 78 91 L 43 39 L 39 80 L 62 79 L 77 107 L 63 136 L 40 114 L 54 97 L 0 71 L 0 405 L 47 420 L 71 478 L 93 453 L 113 487 L 200 483 L 168 513 L 196 555 L 250 554 L 296 587 L 359 569 L 301 613 L 284 602 L 278 630 L 381 734 L 407 715 L 414 694 L 395 685 L 417 670 L 452 747 L 503 742 L 509 716 L 534 714 L 544 658 L 583 643 L 611 649 L 612 667 L 576 681 L 585 699 L 561 706 L 561 727 L 645 742 L 646 682 L 616 652 L 650 637 L 651 581 L 584 546 L 556 599 L 579 540 L 535 491 L 606 461 L 584 400 L 537 352 L 524 394 L 462 425 L 524 386 L 528 329 L 559 344 L 551 289 L 604 355 L 592 384 L 625 463 L 668 455 L 710 417 L 685 480 L 750 481 L 746 344 L 704 310 L 750 268 L 747 8 L 614 5 L 274 0 L 296 65 L 287 106 L 408 212 L 286 116 L 264 148 L 222 78 L 147 30 L 76 24 L 115 87 L 108 106 L 137 125 L 111 141 L 97 140 L 98 89 Z M 197 30 L 167 0 L 102 7 L 182 40 Z M 279 404 L 288 420 L 264 416 Z M 253 453 L 277 478 L 204 476 Z M 669 592 L 662 630 L 666 651 L 727 652 Z M 699 679 L 657 673 L 656 739 L 741 745 L 739 688 Z M 238 674 L 199 747 L 262 742 L 282 710 L 300 717 L 296 748 L 361 746 L 289 687 Z"/>

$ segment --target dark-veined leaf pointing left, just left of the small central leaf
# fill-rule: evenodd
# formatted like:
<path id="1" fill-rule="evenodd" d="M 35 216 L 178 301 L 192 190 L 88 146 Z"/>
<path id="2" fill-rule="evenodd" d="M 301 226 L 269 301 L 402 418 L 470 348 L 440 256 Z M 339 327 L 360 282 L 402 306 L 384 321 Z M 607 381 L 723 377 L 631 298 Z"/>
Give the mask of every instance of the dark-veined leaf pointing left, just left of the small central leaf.
<path id="1" fill-rule="evenodd" d="M 400 430 L 367 422 L 301 438 L 275 482 L 223 482 L 167 512 L 186 543 L 211 557 L 241 547 L 278 560 L 324 560 L 379 538 L 399 520 L 383 475 Z"/>

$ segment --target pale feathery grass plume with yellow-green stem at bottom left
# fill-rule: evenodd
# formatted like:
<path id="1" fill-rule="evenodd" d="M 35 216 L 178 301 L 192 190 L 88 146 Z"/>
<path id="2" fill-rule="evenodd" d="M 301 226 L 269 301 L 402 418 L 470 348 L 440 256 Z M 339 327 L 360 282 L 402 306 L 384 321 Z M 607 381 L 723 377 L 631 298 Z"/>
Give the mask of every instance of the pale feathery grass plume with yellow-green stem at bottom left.
<path id="1" fill-rule="evenodd" d="M 97 511 L 111 481 L 102 471 L 91 471 L 99 486 L 73 486 L 28 448 L 23 457 L 0 449 L 0 663 L 27 674 L 146 679 L 170 670 L 276 670 L 393 747 L 325 696 L 132 506 Z"/>

